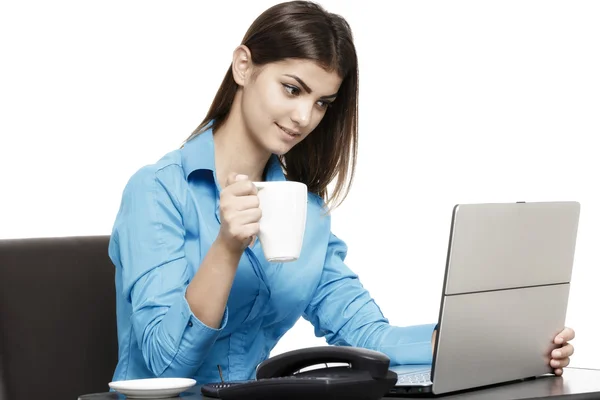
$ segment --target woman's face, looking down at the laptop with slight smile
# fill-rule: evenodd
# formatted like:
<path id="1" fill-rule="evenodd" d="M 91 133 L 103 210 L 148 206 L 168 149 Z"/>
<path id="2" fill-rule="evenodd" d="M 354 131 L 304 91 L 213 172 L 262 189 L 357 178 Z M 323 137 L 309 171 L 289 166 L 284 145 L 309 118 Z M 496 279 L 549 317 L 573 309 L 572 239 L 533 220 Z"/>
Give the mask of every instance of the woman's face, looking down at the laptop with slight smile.
<path id="1" fill-rule="evenodd" d="M 290 59 L 254 69 L 241 94 L 248 133 L 269 153 L 287 153 L 319 125 L 341 83 L 336 72 L 307 60 Z"/>

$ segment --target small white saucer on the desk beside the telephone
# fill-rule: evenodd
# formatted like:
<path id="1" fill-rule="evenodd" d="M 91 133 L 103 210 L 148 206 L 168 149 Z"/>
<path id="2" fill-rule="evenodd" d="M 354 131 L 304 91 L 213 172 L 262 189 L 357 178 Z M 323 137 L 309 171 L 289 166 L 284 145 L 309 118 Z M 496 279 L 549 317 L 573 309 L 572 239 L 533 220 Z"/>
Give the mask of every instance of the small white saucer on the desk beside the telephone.
<path id="1" fill-rule="evenodd" d="M 196 384 L 188 378 L 148 378 L 110 382 L 108 386 L 131 399 L 165 399 L 178 396 Z"/>

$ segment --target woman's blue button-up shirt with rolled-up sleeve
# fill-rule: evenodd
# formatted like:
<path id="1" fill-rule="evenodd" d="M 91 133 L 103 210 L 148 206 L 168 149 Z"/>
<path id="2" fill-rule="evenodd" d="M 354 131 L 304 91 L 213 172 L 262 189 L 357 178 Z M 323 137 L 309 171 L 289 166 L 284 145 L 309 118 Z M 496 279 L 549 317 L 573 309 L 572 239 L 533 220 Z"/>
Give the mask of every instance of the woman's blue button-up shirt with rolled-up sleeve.
<path id="1" fill-rule="evenodd" d="M 286 179 L 275 156 L 266 179 Z M 434 325 L 389 325 L 344 264 L 346 245 L 313 194 L 300 258 L 269 263 L 257 241 L 240 260 L 220 327 L 203 324 L 185 292 L 219 232 L 219 193 L 210 129 L 127 183 L 109 245 L 119 340 L 114 380 L 214 382 L 217 365 L 226 380 L 254 378 L 301 316 L 329 344 L 378 350 L 392 364 L 431 362 Z"/>

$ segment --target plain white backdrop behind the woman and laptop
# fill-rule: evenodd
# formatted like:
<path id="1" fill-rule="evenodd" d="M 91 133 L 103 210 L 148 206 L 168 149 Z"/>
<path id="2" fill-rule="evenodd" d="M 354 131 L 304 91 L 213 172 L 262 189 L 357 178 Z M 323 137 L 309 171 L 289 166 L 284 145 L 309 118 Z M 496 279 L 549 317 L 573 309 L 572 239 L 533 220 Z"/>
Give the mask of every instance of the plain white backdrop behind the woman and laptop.
<path id="1" fill-rule="evenodd" d="M 0 2 L 0 237 L 110 233 L 127 179 L 198 125 L 275 3 Z M 433 322 L 454 204 L 578 200 L 572 365 L 600 368 L 600 3 L 365 3 L 321 2 L 360 59 L 357 179 L 333 214 L 348 264 L 392 323 Z M 322 343 L 300 321 L 274 354 Z"/>

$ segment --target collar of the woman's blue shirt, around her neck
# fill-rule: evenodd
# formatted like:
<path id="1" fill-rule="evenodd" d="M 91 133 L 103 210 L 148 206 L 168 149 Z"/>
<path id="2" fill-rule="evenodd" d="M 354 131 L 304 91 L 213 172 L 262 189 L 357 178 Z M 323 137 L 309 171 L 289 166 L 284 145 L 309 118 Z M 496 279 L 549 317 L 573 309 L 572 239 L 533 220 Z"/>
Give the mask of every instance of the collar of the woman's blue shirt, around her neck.
<path id="1" fill-rule="evenodd" d="M 215 141 L 212 127 L 187 141 L 182 150 L 181 164 L 186 178 L 198 170 L 216 172 L 215 167 Z M 267 181 L 285 181 L 285 174 L 279 162 L 279 157 L 273 154 L 266 166 Z"/>

